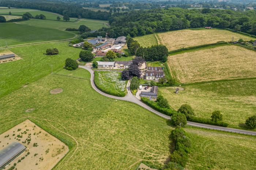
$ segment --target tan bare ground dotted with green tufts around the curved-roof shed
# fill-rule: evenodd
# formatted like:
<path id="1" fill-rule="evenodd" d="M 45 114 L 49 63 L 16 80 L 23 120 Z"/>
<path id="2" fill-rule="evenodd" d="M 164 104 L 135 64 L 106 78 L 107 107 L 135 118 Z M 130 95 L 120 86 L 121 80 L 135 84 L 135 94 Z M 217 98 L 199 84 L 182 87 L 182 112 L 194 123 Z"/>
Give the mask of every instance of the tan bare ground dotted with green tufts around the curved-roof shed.
<path id="1" fill-rule="evenodd" d="M 50 170 L 68 153 L 68 147 L 63 142 L 28 119 L 1 134 L 0 141 L 0 149 L 12 142 L 27 147 L 6 169 L 16 163 L 18 170 Z"/>

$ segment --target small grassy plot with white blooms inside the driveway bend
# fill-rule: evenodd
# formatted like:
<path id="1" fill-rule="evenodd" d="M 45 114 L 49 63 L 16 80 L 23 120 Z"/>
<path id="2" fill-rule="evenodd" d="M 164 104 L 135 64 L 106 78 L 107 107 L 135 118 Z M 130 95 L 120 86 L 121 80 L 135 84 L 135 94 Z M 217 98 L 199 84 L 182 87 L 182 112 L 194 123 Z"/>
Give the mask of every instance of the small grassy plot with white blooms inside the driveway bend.
<path id="1" fill-rule="evenodd" d="M 95 71 L 94 83 L 99 90 L 114 95 L 125 96 L 127 94 L 127 81 L 121 79 L 121 72 L 117 71 Z"/>

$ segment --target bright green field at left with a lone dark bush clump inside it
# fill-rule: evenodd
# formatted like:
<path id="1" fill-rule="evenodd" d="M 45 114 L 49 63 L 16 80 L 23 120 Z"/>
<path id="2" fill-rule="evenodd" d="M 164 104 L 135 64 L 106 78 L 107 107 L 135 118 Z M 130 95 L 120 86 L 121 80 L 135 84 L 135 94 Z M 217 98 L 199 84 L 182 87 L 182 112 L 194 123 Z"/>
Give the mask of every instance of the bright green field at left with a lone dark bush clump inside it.
<path id="1" fill-rule="evenodd" d="M 59 54 L 44 55 L 47 48 L 57 48 Z M 9 50 L 22 59 L 0 64 L 0 98 L 26 83 L 50 74 L 52 69 L 55 71 L 62 68 L 67 58 L 78 59 L 80 52 L 78 48 L 68 47 L 68 42 L 37 44 Z"/>

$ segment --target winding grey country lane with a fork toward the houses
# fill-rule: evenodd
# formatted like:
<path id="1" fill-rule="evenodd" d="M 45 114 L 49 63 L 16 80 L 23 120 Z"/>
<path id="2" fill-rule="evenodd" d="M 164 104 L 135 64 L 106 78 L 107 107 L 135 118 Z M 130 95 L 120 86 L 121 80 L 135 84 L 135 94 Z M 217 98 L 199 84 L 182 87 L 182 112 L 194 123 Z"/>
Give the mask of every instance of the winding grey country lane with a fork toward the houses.
<path id="1" fill-rule="evenodd" d="M 95 91 L 97 91 L 99 94 L 107 96 L 109 98 L 113 98 L 113 99 L 118 99 L 118 100 L 124 100 L 124 101 L 128 101 L 128 102 L 132 102 L 135 104 L 138 104 L 139 106 L 147 109 L 148 111 L 153 112 L 154 114 L 161 116 L 162 118 L 165 119 L 171 119 L 170 116 L 167 116 L 165 114 L 162 114 L 156 110 L 154 110 L 153 108 L 149 107 L 147 104 L 141 102 L 138 98 L 136 98 L 134 95 L 132 95 L 130 89 L 129 89 L 129 84 L 130 82 L 127 83 L 127 91 L 128 94 L 124 97 L 118 97 L 118 96 L 113 96 L 113 95 L 109 95 L 106 94 L 102 91 L 100 91 L 94 84 L 94 70 L 92 70 L 90 67 L 86 67 L 86 66 L 79 66 L 80 68 L 84 68 L 87 71 L 90 72 L 91 74 L 91 78 L 90 78 L 90 82 L 91 82 L 91 86 L 93 87 L 93 89 Z M 187 123 L 190 126 L 195 126 L 195 127 L 202 127 L 205 129 L 212 129 L 212 130 L 219 130 L 219 131 L 226 131 L 226 132 L 231 132 L 231 133 L 238 133 L 238 134 L 247 134 L 247 135 L 255 135 L 256 136 L 256 132 L 255 131 L 249 131 L 249 130 L 242 130 L 242 129 L 235 129 L 235 128 L 230 128 L 230 127 L 221 127 L 221 126 L 215 126 L 215 125 L 210 125 L 210 124 L 203 124 L 203 123 L 196 123 L 196 122 L 189 122 Z"/>

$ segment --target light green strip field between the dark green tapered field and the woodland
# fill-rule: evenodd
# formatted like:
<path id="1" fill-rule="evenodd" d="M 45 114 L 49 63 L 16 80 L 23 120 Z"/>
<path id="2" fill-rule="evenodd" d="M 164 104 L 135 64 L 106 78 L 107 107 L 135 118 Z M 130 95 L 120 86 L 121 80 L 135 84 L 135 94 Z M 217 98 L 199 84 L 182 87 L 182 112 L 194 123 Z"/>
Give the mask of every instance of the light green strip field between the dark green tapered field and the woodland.
<path id="1" fill-rule="evenodd" d="M 30 19 L 27 21 L 19 22 L 19 24 L 30 25 L 35 27 L 54 28 L 60 30 L 65 30 L 66 28 L 79 28 L 80 25 L 86 25 L 91 30 L 100 29 L 102 27 L 108 27 L 108 21 L 91 19 L 80 19 L 75 22 Z"/>

